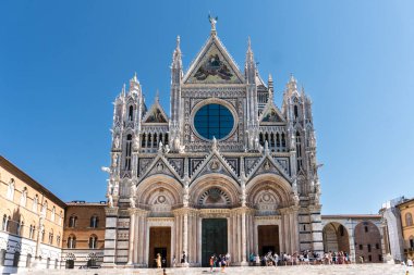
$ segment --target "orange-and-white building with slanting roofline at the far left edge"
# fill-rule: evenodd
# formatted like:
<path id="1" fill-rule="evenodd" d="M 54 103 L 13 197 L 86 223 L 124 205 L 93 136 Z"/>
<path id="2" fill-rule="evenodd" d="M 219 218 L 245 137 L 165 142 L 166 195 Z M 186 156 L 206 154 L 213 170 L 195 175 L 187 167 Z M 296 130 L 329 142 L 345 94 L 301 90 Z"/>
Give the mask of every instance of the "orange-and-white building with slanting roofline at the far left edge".
<path id="1" fill-rule="evenodd" d="M 65 203 L 0 157 L 0 273 L 59 268 Z"/>

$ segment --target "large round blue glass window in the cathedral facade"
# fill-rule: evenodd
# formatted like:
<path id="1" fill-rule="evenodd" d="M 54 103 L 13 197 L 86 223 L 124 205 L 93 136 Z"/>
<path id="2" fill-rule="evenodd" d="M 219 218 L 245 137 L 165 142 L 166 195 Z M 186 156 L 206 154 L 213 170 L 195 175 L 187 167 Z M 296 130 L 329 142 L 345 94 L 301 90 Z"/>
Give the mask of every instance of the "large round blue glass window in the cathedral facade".
<path id="1" fill-rule="evenodd" d="M 194 115 L 194 128 L 206 139 L 222 139 L 233 129 L 234 117 L 230 110 L 220 104 L 202 107 Z"/>

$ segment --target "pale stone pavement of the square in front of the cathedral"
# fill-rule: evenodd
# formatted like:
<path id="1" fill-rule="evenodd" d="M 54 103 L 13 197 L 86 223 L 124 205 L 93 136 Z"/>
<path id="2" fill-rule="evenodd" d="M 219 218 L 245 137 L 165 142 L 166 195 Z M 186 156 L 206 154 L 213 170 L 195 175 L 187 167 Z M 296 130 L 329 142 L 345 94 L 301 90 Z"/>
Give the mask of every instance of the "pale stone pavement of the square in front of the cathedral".
<path id="1" fill-rule="evenodd" d="M 167 268 L 168 275 L 414 275 L 413 267 L 398 264 L 301 265 L 278 267 L 227 267 L 210 272 L 208 267 Z M 42 270 L 19 272 L 33 275 L 162 275 L 155 268 Z"/>

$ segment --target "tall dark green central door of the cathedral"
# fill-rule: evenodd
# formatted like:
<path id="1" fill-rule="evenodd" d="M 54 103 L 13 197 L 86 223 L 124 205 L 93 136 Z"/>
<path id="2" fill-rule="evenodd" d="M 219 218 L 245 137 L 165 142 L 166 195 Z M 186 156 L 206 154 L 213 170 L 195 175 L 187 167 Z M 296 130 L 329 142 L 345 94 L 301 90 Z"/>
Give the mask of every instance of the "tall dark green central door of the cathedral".
<path id="1" fill-rule="evenodd" d="M 208 266 L 212 254 L 228 252 L 227 218 L 203 218 L 202 228 L 202 265 Z"/>

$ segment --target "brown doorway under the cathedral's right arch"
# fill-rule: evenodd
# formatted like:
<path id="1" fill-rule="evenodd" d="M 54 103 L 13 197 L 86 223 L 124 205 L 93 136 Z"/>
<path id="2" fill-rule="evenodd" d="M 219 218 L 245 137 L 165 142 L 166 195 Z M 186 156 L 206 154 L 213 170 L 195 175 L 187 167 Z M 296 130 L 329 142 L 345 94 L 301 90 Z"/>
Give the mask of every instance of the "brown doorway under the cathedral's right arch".
<path id="1" fill-rule="evenodd" d="M 279 227 L 277 225 L 259 225 L 257 226 L 257 234 L 260 255 L 267 254 L 269 251 L 280 254 Z"/>

